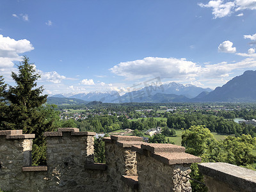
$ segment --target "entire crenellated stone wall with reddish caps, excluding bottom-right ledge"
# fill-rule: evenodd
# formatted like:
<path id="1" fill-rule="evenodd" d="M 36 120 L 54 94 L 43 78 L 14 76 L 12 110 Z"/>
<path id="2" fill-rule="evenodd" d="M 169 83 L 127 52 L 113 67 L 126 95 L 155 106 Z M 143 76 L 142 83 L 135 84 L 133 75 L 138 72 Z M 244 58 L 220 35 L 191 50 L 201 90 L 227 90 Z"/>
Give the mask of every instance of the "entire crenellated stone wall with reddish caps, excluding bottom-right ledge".
<path id="1" fill-rule="evenodd" d="M 0 131 L 0 189 L 4 191 L 191 191 L 184 147 L 143 142 L 136 136 L 104 138 L 106 164 L 93 162 L 95 132 L 45 132 L 47 166 L 31 166 L 33 134 Z"/>

